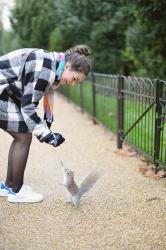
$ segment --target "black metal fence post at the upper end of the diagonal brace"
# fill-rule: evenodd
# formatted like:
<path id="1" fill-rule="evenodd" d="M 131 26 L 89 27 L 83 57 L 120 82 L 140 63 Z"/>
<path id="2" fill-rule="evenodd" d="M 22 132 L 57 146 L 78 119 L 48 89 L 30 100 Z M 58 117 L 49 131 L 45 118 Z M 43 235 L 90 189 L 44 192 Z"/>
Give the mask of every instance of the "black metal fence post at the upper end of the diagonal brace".
<path id="1" fill-rule="evenodd" d="M 162 107 L 160 104 L 160 98 L 162 97 L 163 92 L 163 82 L 156 80 L 155 82 L 155 135 L 154 135 L 154 164 L 156 166 L 156 173 L 159 165 L 160 158 L 160 140 L 161 140 L 161 116 L 162 116 Z"/>

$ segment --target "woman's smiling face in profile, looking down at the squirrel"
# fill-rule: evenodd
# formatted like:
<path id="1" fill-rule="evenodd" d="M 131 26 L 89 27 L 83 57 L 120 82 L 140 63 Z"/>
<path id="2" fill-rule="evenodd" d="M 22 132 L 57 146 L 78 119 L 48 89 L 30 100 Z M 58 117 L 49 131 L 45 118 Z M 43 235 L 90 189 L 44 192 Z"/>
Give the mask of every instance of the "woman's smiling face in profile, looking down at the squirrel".
<path id="1" fill-rule="evenodd" d="M 71 64 L 66 63 L 60 80 L 60 85 L 74 85 L 76 82 L 85 80 L 85 77 L 84 73 L 73 71 L 71 69 Z"/>

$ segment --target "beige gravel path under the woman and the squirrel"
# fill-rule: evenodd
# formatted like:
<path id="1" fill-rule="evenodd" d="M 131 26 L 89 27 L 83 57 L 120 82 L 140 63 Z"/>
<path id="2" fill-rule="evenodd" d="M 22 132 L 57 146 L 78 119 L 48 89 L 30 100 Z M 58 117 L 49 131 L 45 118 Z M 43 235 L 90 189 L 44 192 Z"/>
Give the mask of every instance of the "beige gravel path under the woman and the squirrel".
<path id="1" fill-rule="evenodd" d="M 120 156 L 116 137 L 64 97 L 55 96 L 52 131 L 66 142 L 58 148 L 33 139 L 25 183 L 45 196 L 38 204 L 12 204 L 0 197 L 0 250 L 165 250 L 166 179 L 138 172 L 140 157 Z M 0 131 L 0 181 L 5 180 L 11 138 Z M 65 203 L 58 183 L 60 161 L 79 183 L 91 169 L 103 177 L 81 200 Z"/>

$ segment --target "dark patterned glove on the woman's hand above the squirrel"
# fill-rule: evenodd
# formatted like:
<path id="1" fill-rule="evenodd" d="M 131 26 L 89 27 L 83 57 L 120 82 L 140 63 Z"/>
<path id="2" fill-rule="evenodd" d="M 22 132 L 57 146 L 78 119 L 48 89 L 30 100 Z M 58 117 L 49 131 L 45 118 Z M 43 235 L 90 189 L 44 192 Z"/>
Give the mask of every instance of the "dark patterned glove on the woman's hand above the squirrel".
<path id="1" fill-rule="evenodd" d="M 39 139 L 40 140 L 40 139 Z M 50 133 L 46 137 L 42 138 L 40 140 L 41 142 L 46 142 L 54 147 L 58 147 L 60 144 L 62 144 L 65 141 L 65 138 L 59 133 Z"/>

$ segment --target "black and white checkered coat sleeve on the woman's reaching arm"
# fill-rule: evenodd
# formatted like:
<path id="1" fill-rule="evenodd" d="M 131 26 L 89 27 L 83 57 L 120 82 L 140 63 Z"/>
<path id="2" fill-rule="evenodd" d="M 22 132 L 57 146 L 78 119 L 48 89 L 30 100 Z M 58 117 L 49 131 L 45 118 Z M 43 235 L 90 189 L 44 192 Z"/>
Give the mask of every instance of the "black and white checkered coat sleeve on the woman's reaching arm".
<path id="1" fill-rule="evenodd" d="M 24 121 L 33 134 L 39 138 L 47 136 L 50 130 L 38 115 L 37 106 L 55 80 L 51 60 L 48 55 L 46 56 L 46 52 L 43 54 L 40 51 L 34 51 L 27 59 L 21 99 L 21 113 Z"/>

